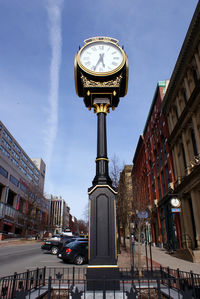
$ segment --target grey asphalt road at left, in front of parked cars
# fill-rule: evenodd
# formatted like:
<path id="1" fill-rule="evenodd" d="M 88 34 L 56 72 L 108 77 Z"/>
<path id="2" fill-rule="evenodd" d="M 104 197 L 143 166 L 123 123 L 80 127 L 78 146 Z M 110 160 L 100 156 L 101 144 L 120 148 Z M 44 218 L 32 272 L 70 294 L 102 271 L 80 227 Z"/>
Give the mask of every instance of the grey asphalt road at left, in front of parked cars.
<path id="1" fill-rule="evenodd" d="M 37 267 L 66 268 L 74 266 L 64 263 L 57 256 L 42 251 L 40 247 L 40 242 L 0 247 L 0 277 L 12 275 L 14 272 L 23 273 L 27 269 L 33 270 Z"/>

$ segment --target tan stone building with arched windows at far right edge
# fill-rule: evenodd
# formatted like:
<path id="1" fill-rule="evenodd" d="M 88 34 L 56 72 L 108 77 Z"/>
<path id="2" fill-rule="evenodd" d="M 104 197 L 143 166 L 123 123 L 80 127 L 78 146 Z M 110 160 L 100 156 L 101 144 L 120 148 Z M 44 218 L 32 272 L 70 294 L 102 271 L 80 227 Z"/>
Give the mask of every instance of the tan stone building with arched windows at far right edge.
<path id="1" fill-rule="evenodd" d="M 173 193 L 181 201 L 182 246 L 192 252 L 193 261 L 200 261 L 200 2 L 172 73 L 163 112 L 173 153 Z"/>

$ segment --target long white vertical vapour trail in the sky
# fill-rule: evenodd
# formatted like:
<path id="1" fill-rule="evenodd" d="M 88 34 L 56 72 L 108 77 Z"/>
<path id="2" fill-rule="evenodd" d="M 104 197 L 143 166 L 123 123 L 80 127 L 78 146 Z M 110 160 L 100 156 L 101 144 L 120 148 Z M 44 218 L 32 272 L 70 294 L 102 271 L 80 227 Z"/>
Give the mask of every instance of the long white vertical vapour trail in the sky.
<path id="1" fill-rule="evenodd" d="M 58 126 L 59 71 L 61 64 L 61 11 L 63 0 L 48 0 L 48 27 L 51 46 L 50 89 L 48 97 L 47 128 L 45 132 L 45 161 L 50 164 Z"/>

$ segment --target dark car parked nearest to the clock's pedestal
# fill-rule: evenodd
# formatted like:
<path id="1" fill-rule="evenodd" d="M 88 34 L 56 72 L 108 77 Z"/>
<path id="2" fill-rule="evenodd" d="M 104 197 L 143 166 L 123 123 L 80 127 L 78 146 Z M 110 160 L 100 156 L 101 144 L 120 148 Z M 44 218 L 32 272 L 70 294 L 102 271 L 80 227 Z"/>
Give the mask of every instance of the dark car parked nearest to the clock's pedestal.
<path id="1" fill-rule="evenodd" d="M 87 263 L 88 241 L 74 241 L 67 244 L 61 252 L 61 259 L 76 265 Z"/>

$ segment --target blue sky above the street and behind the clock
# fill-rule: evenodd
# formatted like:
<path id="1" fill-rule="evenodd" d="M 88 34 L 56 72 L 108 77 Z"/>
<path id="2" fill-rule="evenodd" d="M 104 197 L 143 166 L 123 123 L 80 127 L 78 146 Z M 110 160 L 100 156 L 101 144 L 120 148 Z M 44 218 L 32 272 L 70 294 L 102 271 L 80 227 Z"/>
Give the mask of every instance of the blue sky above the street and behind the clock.
<path id="1" fill-rule="evenodd" d="M 195 0 L 0 0 L 0 119 L 46 163 L 45 192 L 83 218 L 95 176 L 96 115 L 74 87 L 84 39 L 111 36 L 129 57 L 128 94 L 107 116 L 108 157 L 131 164 L 158 81 L 169 79 Z"/>

